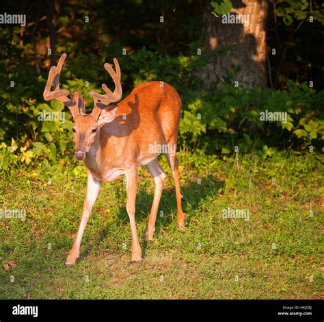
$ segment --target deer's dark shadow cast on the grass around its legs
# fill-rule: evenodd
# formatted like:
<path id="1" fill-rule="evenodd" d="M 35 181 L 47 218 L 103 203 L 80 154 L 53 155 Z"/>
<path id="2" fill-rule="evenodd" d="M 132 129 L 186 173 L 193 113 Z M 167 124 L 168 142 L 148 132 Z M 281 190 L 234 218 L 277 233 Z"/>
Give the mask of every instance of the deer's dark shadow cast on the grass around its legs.
<path id="1" fill-rule="evenodd" d="M 158 236 L 160 230 L 165 227 L 170 227 L 170 225 L 176 225 L 176 190 L 174 188 L 174 179 L 172 176 L 168 176 L 167 180 L 171 180 L 172 188 L 164 188 L 161 196 L 161 201 L 159 204 L 159 211 L 157 214 L 157 221 L 155 223 L 155 234 Z M 152 179 L 153 181 L 153 179 Z M 165 182 L 167 186 L 169 182 Z M 185 212 L 185 224 L 190 225 L 191 213 L 200 206 L 200 203 L 206 199 L 206 197 L 212 195 L 217 197 L 220 190 L 224 189 L 226 186 L 225 181 L 217 181 L 213 175 L 208 175 L 204 177 L 201 181 L 189 182 L 188 184 L 181 185 L 181 194 L 183 195 L 182 206 L 183 212 Z M 150 189 L 150 193 L 145 190 L 138 188 L 137 198 L 136 198 L 136 223 L 148 222 L 148 216 L 150 214 L 150 208 L 152 206 L 154 188 Z M 123 189 L 122 193 L 126 195 L 126 190 Z M 118 193 L 117 197 L 122 197 L 122 193 Z M 126 212 L 126 207 L 120 207 L 118 211 L 118 221 L 124 223 L 129 221 L 129 215 Z M 104 240 L 107 236 L 109 230 L 109 225 L 106 225 L 102 230 L 100 230 L 98 238 L 96 238 L 96 245 Z M 138 233 L 138 232 L 137 232 Z M 146 240 L 145 236 L 139 236 L 141 240 L 141 249 L 143 256 L 146 256 L 146 249 L 149 241 Z M 95 247 L 94 243 L 90 245 L 84 245 L 83 251 L 80 254 L 79 261 L 83 260 L 90 251 Z"/>

